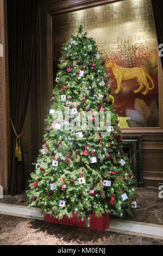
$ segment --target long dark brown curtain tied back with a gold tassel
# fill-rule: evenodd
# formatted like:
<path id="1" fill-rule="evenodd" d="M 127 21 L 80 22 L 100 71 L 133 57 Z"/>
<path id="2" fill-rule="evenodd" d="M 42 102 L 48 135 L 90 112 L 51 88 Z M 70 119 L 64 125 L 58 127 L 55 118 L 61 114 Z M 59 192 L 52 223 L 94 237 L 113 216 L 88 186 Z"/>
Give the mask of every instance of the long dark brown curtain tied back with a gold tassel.
<path id="1" fill-rule="evenodd" d="M 10 118 L 17 135 L 26 117 L 35 44 L 36 0 L 7 0 Z M 11 128 L 10 193 L 26 189 L 24 160 L 15 157 L 16 136 Z M 22 147 L 21 147 L 22 149 Z"/>

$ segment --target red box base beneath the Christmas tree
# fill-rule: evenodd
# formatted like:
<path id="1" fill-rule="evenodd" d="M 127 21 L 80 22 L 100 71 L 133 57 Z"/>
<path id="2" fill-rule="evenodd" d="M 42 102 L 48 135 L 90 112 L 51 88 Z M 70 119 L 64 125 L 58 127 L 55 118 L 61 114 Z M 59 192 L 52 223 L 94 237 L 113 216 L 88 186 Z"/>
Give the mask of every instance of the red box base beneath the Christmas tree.
<path id="1" fill-rule="evenodd" d="M 80 221 L 78 221 L 78 212 L 73 214 L 73 217 L 68 218 L 68 216 L 63 217 L 61 220 L 58 218 L 52 217 L 51 214 L 44 213 L 44 218 L 46 222 L 53 222 L 64 225 L 71 225 L 80 228 L 87 229 L 96 229 L 96 230 L 105 230 L 109 228 L 111 217 L 108 213 L 105 212 L 105 217 L 96 217 L 94 214 L 90 215 L 90 227 L 86 227 L 86 220 L 82 221 L 82 217 Z"/>

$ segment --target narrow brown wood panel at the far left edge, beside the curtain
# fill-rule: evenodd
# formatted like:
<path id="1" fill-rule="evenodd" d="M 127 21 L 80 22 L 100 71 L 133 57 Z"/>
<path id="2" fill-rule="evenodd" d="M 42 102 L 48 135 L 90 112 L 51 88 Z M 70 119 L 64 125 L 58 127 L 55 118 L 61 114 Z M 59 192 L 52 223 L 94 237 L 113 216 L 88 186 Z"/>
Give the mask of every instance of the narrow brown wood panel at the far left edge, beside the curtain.
<path id="1" fill-rule="evenodd" d="M 0 57 L 0 184 L 4 194 L 9 190 L 9 86 L 8 86 L 8 50 L 7 50 L 7 8 L 6 1 L 0 0 L 0 44 L 3 56 Z"/>

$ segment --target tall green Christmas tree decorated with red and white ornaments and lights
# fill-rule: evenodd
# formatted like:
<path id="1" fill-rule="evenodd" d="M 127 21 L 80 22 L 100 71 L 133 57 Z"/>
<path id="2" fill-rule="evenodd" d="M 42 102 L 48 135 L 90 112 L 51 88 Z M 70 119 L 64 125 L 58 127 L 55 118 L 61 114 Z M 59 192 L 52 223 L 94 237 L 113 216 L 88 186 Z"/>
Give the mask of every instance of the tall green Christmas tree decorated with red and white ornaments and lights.
<path id="1" fill-rule="evenodd" d="M 80 25 L 78 34 L 62 47 L 44 144 L 30 174 L 27 196 L 29 206 L 39 205 L 42 212 L 59 219 L 78 212 L 78 219 L 85 217 L 89 227 L 92 214 L 131 215 L 136 192 L 112 109 L 112 90 L 106 86 L 105 60 L 86 34 Z M 109 111 L 110 132 L 104 136 L 101 126 L 95 125 L 95 113 L 104 114 L 106 127 Z M 92 130 L 87 129 L 89 124 Z"/>

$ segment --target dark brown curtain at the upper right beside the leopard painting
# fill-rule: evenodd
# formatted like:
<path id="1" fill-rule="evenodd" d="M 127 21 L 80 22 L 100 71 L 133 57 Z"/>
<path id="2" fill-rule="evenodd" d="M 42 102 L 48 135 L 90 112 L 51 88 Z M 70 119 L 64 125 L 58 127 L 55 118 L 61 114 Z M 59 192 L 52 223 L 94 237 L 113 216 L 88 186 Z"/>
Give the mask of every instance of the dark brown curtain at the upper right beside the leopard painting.
<path id="1" fill-rule="evenodd" d="M 158 45 L 163 44 L 163 1 L 162 0 L 152 0 L 153 15 L 155 21 L 156 34 L 158 38 Z M 161 57 L 161 63 L 163 68 L 163 56 Z"/>

